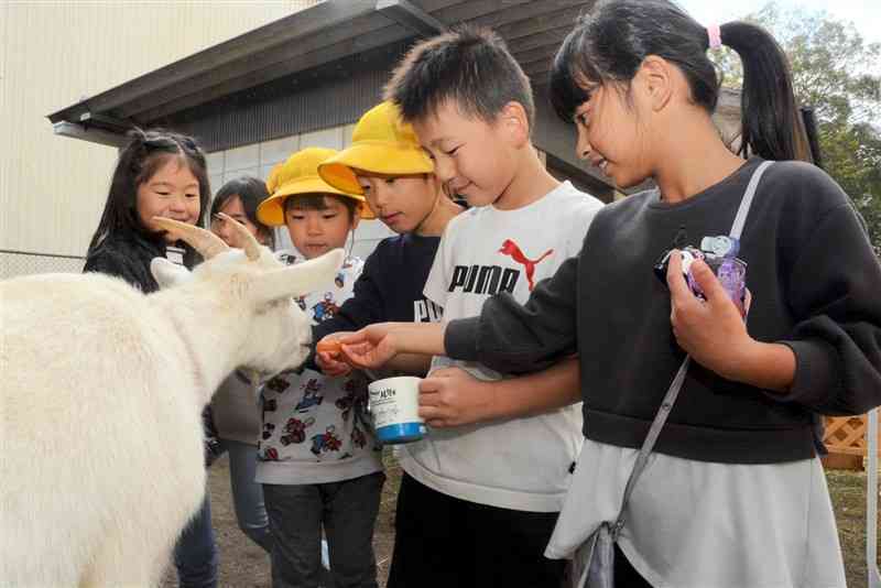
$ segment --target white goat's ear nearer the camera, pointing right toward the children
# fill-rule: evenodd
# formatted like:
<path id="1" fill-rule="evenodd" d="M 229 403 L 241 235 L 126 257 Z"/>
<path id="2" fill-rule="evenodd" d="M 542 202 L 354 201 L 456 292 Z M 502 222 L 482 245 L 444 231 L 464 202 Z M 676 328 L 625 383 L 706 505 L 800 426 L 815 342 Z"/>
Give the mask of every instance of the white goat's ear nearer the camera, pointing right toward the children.
<path id="1" fill-rule="evenodd" d="M 303 296 L 334 281 L 346 253 L 335 249 L 316 258 L 283 270 L 274 270 L 257 279 L 254 297 L 265 304 L 292 296 Z"/>

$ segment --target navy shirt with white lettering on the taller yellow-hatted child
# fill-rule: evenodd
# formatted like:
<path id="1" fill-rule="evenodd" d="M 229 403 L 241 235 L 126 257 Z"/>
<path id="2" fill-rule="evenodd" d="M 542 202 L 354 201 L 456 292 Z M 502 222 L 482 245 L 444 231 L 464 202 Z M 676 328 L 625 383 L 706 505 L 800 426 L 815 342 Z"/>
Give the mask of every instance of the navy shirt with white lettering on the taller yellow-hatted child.
<path id="1" fill-rule="evenodd" d="M 440 319 L 440 309 L 422 290 L 434 263 L 439 237 L 400 235 L 380 241 L 355 282 L 352 296 L 334 318 L 313 327 L 313 338 L 341 330 L 358 330 L 373 323 Z"/>

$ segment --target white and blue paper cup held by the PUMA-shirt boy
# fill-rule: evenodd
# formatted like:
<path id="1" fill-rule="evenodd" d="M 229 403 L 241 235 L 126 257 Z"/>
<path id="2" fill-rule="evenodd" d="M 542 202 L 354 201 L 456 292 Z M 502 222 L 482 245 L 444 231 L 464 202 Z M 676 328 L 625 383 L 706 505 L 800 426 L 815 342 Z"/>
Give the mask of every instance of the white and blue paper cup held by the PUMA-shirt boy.
<path id="1" fill-rule="evenodd" d="M 411 375 L 377 380 L 368 385 L 369 410 L 380 442 L 411 443 L 425 435 L 420 418 L 420 382 Z"/>

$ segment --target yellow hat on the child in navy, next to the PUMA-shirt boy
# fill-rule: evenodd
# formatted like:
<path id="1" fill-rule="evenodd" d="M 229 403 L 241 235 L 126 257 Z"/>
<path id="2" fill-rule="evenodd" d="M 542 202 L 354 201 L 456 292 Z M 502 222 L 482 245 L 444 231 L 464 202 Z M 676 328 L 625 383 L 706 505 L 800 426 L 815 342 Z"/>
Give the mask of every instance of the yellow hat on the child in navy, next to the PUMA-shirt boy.
<path id="1" fill-rule="evenodd" d="M 434 163 L 420 146 L 413 127 L 401 120 L 391 102 L 381 102 L 361 117 L 351 145 L 318 166 L 322 179 L 349 194 L 363 194 L 355 170 L 405 175 L 434 172 Z"/>

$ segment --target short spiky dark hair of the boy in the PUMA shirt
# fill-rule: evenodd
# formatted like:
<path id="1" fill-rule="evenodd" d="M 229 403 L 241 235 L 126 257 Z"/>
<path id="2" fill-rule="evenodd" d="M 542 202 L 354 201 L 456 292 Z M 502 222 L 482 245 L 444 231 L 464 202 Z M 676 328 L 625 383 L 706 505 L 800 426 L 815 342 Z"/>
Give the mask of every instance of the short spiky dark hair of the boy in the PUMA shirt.
<path id="1" fill-rule="evenodd" d="M 411 48 L 385 85 L 384 99 L 407 122 L 425 120 L 446 100 L 466 116 L 493 122 L 508 102 L 535 118 L 532 86 L 496 32 L 465 25 Z"/>

